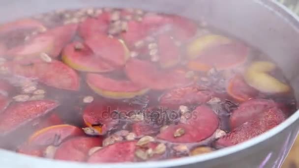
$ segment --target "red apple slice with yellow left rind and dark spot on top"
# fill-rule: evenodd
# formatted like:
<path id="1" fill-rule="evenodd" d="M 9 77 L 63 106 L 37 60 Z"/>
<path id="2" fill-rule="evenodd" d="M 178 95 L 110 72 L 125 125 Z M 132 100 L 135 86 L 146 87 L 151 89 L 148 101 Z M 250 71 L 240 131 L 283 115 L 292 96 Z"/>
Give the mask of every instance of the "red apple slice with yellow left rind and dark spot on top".
<path id="1" fill-rule="evenodd" d="M 78 71 L 109 72 L 115 69 L 101 57 L 95 56 L 86 44 L 80 42 L 68 44 L 62 52 L 62 60 Z"/>

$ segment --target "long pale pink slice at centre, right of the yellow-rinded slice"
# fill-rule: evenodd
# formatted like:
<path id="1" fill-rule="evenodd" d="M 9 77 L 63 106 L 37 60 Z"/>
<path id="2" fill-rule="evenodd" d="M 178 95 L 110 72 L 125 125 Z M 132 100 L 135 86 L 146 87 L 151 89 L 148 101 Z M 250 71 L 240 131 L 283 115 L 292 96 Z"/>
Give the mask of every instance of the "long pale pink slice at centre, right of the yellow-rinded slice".
<path id="1" fill-rule="evenodd" d="M 125 66 L 127 77 L 134 83 L 154 90 L 164 90 L 185 86 L 192 82 L 185 74 L 176 71 L 160 71 L 149 61 L 130 59 Z"/>

